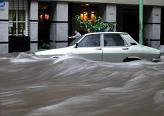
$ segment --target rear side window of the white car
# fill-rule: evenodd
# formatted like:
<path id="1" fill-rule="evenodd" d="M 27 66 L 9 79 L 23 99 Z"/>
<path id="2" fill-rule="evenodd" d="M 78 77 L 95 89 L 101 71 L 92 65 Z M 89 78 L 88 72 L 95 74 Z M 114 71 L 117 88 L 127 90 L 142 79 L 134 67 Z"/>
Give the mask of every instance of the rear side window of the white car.
<path id="1" fill-rule="evenodd" d="M 125 42 L 119 34 L 104 34 L 104 46 L 124 46 Z"/>

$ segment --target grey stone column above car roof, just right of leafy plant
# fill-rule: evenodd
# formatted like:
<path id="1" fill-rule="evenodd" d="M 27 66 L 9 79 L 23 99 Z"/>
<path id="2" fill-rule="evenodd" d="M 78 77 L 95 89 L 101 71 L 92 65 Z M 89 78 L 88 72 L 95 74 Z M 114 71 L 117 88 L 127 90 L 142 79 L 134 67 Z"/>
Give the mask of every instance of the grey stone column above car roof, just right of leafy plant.
<path id="1" fill-rule="evenodd" d="M 111 4 L 106 5 L 103 19 L 105 22 L 116 23 L 116 5 L 111 5 Z M 116 25 L 114 31 L 116 31 Z"/>

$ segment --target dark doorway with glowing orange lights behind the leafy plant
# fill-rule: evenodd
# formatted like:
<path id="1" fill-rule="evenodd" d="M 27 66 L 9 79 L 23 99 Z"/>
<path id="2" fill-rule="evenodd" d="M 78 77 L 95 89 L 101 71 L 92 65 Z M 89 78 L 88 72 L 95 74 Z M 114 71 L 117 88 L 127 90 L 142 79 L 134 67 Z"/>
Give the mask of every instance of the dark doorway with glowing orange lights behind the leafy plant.
<path id="1" fill-rule="evenodd" d="M 87 33 L 86 30 L 81 28 L 79 24 L 76 23 L 75 16 L 80 15 L 80 17 L 85 19 L 91 19 L 91 17 L 102 17 L 102 12 L 104 11 L 104 5 L 94 4 L 94 3 L 69 3 L 69 36 L 74 35 L 74 30 L 78 30 L 82 35 Z M 91 16 L 92 14 L 92 16 Z M 71 43 L 72 39 L 68 39 L 68 43 Z"/>

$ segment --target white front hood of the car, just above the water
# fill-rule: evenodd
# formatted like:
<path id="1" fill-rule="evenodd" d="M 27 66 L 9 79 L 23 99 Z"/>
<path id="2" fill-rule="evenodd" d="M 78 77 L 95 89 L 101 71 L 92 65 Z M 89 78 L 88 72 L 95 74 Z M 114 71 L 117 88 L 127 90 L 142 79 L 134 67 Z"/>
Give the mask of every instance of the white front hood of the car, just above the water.
<path id="1" fill-rule="evenodd" d="M 39 56 L 53 56 L 53 55 L 63 55 L 71 53 L 73 47 L 65 47 L 65 48 L 58 48 L 58 49 L 51 49 L 51 50 L 44 50 L 35 52 L 35 55 Z"/>

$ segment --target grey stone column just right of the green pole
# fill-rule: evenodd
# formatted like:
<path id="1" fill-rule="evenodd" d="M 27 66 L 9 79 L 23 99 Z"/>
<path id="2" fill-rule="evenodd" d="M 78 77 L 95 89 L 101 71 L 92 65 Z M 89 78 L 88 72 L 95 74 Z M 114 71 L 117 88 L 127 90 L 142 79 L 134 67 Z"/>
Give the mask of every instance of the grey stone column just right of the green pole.
<path id="1" fill-rule="evenodd" d="M 161 8 L 145 8 L 144 18 L 144 41 L 148 46 L 159 49 L 161 29 Z"/>

